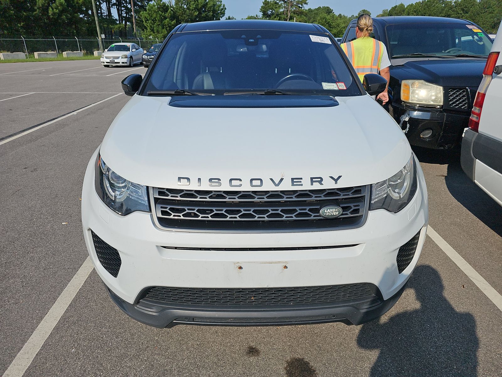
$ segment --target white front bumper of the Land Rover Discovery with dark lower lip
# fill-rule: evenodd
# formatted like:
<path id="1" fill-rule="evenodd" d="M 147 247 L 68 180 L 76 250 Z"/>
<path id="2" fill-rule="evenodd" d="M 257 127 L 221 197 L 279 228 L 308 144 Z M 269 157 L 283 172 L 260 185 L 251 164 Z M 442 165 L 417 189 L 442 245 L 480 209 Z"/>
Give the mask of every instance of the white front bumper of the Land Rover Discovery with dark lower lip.
<path id="1" fill-rule="evenodd" d="M 358 229 L 299 233 L 202 233 L 161 230 L 154 225 L 151 214 L 135 212 L 119 216 L 109 210 L 94 189 L 96 154 L 97 151 L 87 166 L 82 191 L 82 225 L 89 255 L 117 305 L 133 318 L 154 326 L 170 326 L 168 322 L 174 317 L 189 318 L 175 319 L 183 323 L 195 322 L 194 318 L 201 317 L 205 318 L 204 321 L 215 323 L 216 318 L 224 317 L 236 324 L 246 324 L 246 318 L 258 319 L 253 324 L 287 324 L 293 312 L 297 314 L 295 318 L 301 314 L 302 319 L 289 321 L 291 323 L 343 319 L 362 323 L 367 318 L 385 313 L 399 299 L 396 294 L 402 291 L 415 268 L 425 240 L 427 191 L 419 164 L 418 189 L 409 205 L 397 214 L 385 210 L 370 211 L 366 223 Z M 91 230 L 118 250 L 121 266 L 116 278 L 100 264 Z M 418 232 L 420 237 L 413 260 L 399 273 L 396 263 L 398 250 Z M 313 249 L 298 249 L 308 246 Z M 316 248 L 326 246 L 333 248 Z M 215 250 L 208 251 L 207 248 L 211 247 Z M 224 250 L 242 247 L 254 250 Z M 199 309 L 196 316 L 193 308 L 173 309 L 157 305 L 146 309 L 145 302 L 140 300 L 140 294 L 148 287 L 312 287 L 361 282 L 378 288 L 382 301 L 378 306 L 360 303 L 362 306 L 357 307 L 354 303 L 344 303 L 324 308 L 321 312 L 319 308 L 295 308 L 294 311 L 251 308 L 248 311 L 252 313 L 240 315 L 246 323 L 235 321 L 235 311 L 222 315 L 221 311 Z M 158 319 L 160 317 L 161 320 Z M 260 322 L 262 317 L 264 321 Z M 228 325 L 226 322 L 223 324 Z"/>

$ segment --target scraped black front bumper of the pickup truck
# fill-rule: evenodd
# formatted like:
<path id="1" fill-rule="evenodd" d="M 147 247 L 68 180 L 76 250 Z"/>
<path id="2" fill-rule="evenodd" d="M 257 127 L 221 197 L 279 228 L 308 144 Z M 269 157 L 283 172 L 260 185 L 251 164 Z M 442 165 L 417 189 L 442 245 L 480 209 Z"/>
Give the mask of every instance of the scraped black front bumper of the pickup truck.
<path id="1" fill-rule="evenodd" d="M 469 123 L 470 113 L 393 103 L 392 115 L 410 144 L 425 148 L 449 149 L 461 142 L 462 132 Z"/>

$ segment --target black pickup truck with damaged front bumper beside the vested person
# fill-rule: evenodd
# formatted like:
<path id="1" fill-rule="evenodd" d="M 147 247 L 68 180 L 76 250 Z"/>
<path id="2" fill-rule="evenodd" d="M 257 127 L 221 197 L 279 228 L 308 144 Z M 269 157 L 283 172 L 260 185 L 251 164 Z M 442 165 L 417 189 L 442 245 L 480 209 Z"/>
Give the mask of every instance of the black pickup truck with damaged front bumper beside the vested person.
<path id="1" fill-rule="evenodd" d="M 356 22 L 341 43 L 355 39 Z M 491 49 L 488 34 L 467 20 L 411 16 L 373 18 L 373 33 L 392 63 L 386 108 L 410 144 L 459 144 Z"/>

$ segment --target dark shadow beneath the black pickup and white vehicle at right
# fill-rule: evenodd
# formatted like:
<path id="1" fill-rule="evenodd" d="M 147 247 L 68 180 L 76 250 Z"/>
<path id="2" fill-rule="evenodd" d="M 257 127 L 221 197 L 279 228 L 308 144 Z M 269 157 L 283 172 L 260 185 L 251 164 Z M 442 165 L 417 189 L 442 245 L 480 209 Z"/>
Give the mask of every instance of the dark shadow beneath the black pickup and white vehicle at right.
<path id="1" fill-rule="evenodd" d="M 430 164 L 447 164 L 447 173 L 444 177 L 446 187 L 450 194 L 476 216 L 488 228 L 502 237 L 502 207 L 482 191 L 460 166 L 460 149 L 441 151 L 413 147 L 413 151 L 420 162 Z M 468 228 L 468 225 L 466 225 Z"/>

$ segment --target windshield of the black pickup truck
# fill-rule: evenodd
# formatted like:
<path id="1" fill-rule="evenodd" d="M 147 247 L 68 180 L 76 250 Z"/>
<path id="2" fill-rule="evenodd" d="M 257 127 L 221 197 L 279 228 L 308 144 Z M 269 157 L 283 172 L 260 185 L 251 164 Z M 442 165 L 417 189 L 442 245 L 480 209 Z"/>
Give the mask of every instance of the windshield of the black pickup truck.
<path id="1" fill-rule="evenodd" d="M 386 28 L 392 58 L 437 55 L 488 56 L 491 39 L 474 25 L 398 24 Z"/>

